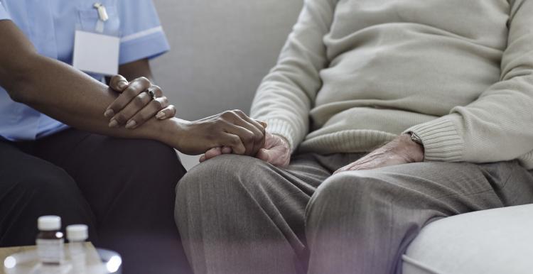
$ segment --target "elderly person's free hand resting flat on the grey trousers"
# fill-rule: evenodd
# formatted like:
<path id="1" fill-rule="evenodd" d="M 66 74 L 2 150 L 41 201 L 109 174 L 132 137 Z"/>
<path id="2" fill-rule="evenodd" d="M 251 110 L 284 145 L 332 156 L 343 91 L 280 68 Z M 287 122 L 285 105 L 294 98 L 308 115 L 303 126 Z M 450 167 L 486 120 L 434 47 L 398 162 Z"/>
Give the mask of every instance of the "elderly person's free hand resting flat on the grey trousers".
<path id="1" fill-rule="evenodd" d="M 389 165 L 416 163 L 423 160 L 424 148 L 412 141 L 409 134 L 402 134 L 385 146 L 365 155 L 365 157 L 338 169 L 335 173 L 348 170 L 371 170 Z"/>

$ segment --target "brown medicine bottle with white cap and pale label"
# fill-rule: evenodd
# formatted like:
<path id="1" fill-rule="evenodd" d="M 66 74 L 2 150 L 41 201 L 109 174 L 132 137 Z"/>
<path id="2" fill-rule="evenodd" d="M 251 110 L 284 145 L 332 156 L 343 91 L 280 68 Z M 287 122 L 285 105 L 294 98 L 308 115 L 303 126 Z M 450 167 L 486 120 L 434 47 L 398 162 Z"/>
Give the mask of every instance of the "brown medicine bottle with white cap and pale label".
<path id="1" fill-rule="evenodd" d="M 43 216 L 37 221 L 37 254 L 43 265 L 59 265 L 63 262 L 65 240 L 61 233 L 61 218 Z"/>

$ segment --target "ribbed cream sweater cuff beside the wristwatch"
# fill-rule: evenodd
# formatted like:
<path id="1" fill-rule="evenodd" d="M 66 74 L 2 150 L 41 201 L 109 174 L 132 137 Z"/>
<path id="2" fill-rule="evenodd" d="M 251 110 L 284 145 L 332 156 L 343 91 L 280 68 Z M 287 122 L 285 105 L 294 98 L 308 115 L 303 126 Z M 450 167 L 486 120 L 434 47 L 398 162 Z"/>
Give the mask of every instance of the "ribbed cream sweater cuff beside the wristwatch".
<path id="1" fill-rule="evenodd" d="M 450 116 L 413 126 L 404 133 L 414 132 L 424 145 L 428 161 L 459 162 L 463 159 L 465 143 Z"/>

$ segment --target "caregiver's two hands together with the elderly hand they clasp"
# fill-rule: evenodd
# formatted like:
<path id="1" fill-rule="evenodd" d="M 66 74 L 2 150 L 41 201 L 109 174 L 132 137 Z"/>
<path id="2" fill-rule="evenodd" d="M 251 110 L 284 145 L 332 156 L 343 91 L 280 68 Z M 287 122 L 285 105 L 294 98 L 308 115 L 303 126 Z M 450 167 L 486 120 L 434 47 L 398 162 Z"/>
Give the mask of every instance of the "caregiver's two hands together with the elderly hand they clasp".
<path id="1" fill-rule="evenodd" d="M 164 124 L 159 141 L 186 154 L 205 153 L 202 161 L 222 153 L 235 153 L 255 156 L 273 165 L 289 165 L 289 144 L 279 136 L 266 133 L 266 124 L 242 111 L 225 111 L 198 121 L 185 121 L 174 118 L 176 107 L 168 104 L 161 88 L 145 77 L 128 82 L 116 75 L 111 78 L 109 88 L 119 94 L 104 111 L 109 127 L 125 126 L 134 130 L 157 119 Z"/>

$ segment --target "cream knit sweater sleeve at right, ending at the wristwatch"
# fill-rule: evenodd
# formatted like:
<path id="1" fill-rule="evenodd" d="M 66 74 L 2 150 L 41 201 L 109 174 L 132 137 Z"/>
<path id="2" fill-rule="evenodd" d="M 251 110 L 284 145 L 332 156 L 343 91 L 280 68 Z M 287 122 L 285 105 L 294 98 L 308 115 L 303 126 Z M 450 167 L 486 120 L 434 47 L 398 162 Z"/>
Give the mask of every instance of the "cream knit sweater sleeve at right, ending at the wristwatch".
<path id="1" fill-rule="evenodd" d="M 426 160 L 533 160 L 533 0 L 510 3 L 500 81 L 475 102 L 407 130 L 422 139 Z"/>

